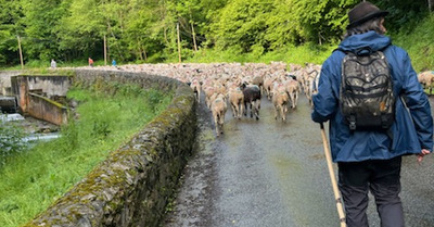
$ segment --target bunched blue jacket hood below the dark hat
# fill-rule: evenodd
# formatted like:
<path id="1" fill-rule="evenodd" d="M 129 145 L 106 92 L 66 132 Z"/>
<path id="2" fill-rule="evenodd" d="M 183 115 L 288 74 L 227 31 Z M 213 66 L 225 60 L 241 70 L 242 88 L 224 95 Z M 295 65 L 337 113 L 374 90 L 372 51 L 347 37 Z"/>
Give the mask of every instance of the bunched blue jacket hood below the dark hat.
<path id="1" fill-rule="evenodd" d="M 372 51 L 382 50 L 390 46 L 392 40 L 387 36 L 380 35 L 373 30 L 353 35 L 344 39 L 339 49 L 343 51 L 357 52 L 362 49 L 371 49 Z"/>

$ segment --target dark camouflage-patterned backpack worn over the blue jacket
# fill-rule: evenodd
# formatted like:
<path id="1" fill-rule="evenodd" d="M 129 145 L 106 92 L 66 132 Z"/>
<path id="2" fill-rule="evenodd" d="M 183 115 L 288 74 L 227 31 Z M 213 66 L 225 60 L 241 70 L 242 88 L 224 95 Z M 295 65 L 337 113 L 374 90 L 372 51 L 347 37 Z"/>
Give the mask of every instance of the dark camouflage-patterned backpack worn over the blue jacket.
<path id="1" fill-rule="evenodd" d="M 382 51 L 342 61 L 340 106 L 349 129 L 387 129 L 395 119 L 395 96 L 387 60 Z"/>

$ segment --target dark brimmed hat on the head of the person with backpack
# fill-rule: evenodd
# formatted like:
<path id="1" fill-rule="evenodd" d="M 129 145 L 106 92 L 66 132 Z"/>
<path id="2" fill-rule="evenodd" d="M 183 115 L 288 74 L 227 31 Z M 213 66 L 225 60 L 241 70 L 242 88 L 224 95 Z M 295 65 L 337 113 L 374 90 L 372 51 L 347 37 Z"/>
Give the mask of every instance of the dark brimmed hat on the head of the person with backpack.
<path id="1" fill-rule="evenodd" d="M 349 25 L 346 28 L 361 25 L 371 18 L 384 17 L 387 14 L 387 11 L 380 10 L 369 1 L 360 2 L 348 12 Z"/>

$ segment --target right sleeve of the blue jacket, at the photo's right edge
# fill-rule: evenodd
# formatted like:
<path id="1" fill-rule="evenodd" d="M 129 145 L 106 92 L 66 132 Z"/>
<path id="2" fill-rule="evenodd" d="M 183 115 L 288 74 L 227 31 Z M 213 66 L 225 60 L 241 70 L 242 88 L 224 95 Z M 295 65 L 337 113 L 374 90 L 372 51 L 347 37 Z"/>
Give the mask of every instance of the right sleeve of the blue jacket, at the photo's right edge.
<path id="1" fill-rule="evenodd" d="M 407 53 L 403 63 L 403 68 L 405 71 L 405 83 L 403 89 L 405 92 L 406 104 L 410 111 L 411 118 L 413 119 L 421 147 L 432 151 L 433 118 L 431 115 L 430 101 L 418 80 L 418 76 L 411 66 L 410 58 Z"/>

